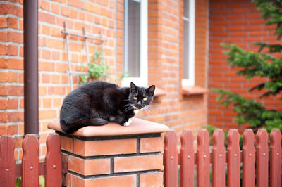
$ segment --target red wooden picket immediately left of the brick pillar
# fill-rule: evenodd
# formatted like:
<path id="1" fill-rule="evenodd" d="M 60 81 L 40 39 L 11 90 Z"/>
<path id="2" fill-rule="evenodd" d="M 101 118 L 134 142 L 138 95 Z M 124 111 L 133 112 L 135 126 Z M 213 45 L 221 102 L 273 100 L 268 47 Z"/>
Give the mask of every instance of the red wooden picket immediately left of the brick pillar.
<path id="1" fill-rule="evenodd" d="M 58 134 L 49 134 L 47 141 L 46 176 L 45 186 L 61 186 L 62 181 L 62 156 L 61 156 L 61 139 Z"/>

